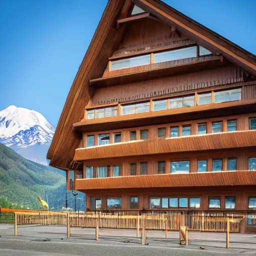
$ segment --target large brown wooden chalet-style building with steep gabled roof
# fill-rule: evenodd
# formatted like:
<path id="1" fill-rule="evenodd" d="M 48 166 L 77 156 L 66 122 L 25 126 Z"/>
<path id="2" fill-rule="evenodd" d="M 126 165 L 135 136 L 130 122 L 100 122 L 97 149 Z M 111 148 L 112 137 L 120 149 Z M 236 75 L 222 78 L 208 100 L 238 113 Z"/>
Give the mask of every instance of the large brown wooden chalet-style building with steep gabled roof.
<path id="1" fill-rule="evenodd" d="M 47 158 L 87 210 L 243 213 L 256 231 L 255 75 L 253 54 L 160 0 L 109 0 Z"/>

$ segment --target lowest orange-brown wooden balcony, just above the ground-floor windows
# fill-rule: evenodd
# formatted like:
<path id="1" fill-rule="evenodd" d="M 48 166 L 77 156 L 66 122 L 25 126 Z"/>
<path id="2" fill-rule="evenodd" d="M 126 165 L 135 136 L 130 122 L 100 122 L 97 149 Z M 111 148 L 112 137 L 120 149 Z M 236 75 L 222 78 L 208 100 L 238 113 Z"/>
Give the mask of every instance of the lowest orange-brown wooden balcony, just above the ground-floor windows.
<path id="1" fill-rule="evenodd" d="M 76 179 L 75 190 L 255 185 L 256 171 L 194 172 L 186 174 L 155 174 L 109 178 Z"/>

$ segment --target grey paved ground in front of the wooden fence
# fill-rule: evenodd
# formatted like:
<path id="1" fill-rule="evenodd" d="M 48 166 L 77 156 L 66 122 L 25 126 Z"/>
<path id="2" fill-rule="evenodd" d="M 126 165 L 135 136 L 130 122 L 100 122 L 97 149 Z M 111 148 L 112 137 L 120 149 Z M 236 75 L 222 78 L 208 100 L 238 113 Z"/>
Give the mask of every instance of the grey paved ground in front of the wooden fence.
<path id="1" fill-rule="evenodd" d="M 148 245 L 141 245 L 135 230 L 71 228 L 66 238 L 65 226 L 21 226 L 14 236 L 13 225 L 0 224 L 1 256 L 153 256 L 153 255 L 256 255 L 253 234 L 230 234 L 230 248 L 225 248 L 225 233 L 189 232 L 189 245 L 179 245 L 178 232 L 148 231 Z M 200 249 L 200 246 L 204 249 Z"/>

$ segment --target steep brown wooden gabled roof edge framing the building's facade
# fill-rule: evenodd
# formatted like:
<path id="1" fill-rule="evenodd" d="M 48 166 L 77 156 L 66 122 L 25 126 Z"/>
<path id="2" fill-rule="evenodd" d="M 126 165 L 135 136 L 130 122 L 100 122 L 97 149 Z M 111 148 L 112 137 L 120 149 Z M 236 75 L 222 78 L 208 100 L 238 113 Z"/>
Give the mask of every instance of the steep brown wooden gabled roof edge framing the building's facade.
<path id="1" fill-rule="evenodd" d="M 213 32 L 160 0 L 109 0 L 91 43 L 74 78 L 57 128 L 47 153 L 50 165 L 72 169 L 75 148 L 81 135 L 72 131 L 72 124 L 83 118 L 84 107 L 93 89 L 89 80 L 99 78 L 107 64 L 107 58 L 118 48 L 126 24 L 116 26 L 116 20 L 129 15 L 133 4 L 154 15 L 198 44 L 222 54 L 241 69 L 256 75 L 256 56 Z"/>

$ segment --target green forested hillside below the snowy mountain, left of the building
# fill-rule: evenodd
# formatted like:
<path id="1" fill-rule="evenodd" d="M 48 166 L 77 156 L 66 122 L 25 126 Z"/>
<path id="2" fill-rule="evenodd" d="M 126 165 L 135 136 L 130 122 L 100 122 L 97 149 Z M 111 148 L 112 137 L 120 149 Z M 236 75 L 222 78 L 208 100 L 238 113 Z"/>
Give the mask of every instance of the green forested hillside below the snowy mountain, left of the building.
<path id="1" fill-rule="evenodd" d="M 59 210 L 65 206 L 64 172 L 27 160 L 0 144 L 0 198 L 7 199 L 13 206 L 40 209 L 38 195 L 45 201 L 48 199 L 49 208 Z M 79 193 L 77 197 L 77 210 L 84 210 L 85 196 Z M 68 207 L 74 208 L 70 191 Z"/>

